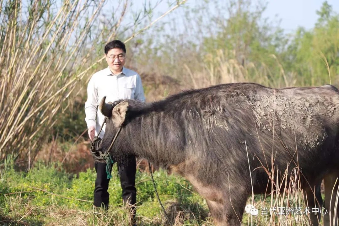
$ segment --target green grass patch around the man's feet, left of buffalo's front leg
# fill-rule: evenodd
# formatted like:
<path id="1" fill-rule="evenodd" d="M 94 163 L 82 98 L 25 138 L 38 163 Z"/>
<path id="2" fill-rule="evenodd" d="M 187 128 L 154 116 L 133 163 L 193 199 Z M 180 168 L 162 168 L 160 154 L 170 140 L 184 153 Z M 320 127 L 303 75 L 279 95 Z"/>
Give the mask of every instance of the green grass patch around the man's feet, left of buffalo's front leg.
<path id="1" fill-rule="evenodd" d="M 92 205 L 94 169 L 76 175 L 58 164 L 37 163 L 29 172 L 16 171 L 13 164 L 0 170 L 0 225 L 127 225 L 116 166 L 109 182 L 107 212 Z M 211 225 L 204 199 L 191 192 L 186 180 L 163 170 L 154 172 L 154 179 L 160 199 L 177 224 Z M 137 171 L 136 187 L 139 225 L 162 225 L 165 219 L 150 175 Z"/>

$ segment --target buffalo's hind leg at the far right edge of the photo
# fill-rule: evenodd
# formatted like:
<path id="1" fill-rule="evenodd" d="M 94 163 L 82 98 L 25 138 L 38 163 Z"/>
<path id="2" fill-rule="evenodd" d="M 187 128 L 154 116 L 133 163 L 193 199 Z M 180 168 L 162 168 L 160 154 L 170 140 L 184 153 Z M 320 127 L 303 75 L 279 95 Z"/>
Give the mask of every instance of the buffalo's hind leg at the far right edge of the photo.
<path id="1" fill-rule="evenodd" d="M 337 226 L 338 213 L 336 211 L 336 197 L 339 185 L 338 172 L 332 172 L 324 177 L 325 204 L 327 213 L 324 215 L 324 226 Z M 338 180 L 337 180 L 338 179 Z M 335 212 L 336 211 L 336 212 Z"/>

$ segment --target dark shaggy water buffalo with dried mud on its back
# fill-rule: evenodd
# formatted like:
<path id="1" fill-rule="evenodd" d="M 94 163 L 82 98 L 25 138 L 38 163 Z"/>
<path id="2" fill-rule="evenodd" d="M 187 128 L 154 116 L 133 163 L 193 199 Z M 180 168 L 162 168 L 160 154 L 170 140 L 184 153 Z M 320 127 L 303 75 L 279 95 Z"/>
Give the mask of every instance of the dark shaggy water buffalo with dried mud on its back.
<path id="1" fill-rule="evenodd" d="M 324 224 L 337 214 L 335 200 L 330 202 L 339 175 L 339 91 L 334 86 L 221 84 L 152 103 L 105 103 L 103 98 L 99 108 L 108 119 L 102 150 L 121 127 L 111 157 L 145 158 L 181 174 L 206 199 L 218 226 L 241 225 L 248 196 L 271 188 L 273 168 L 287 170 L 281 181 L 287 184 L 299 170 L 296 180 L 310 208 L 322 207 L 314 188 L 324 179 Z M 311 214 L 310 223 L 318 225 L 318 217 Z"/>

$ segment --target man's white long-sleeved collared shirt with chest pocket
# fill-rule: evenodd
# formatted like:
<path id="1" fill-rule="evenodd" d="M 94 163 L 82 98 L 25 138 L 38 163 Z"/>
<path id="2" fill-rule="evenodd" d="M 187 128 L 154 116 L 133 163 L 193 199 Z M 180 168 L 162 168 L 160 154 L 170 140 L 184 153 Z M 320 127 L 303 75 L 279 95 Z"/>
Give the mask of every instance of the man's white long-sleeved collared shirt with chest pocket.
<path id="1" fill-rule="evenodd" d="M 125 67 L 122 68 L 120 74 L 112 75 L 111 70 L 107 67 L 95 73 L 89 80 L 87 101 L 85 102 L 85 121 L 87 128 L 95 126 L 95 135 L 98 134 L 105 118 L 98 108 L 104 96 L 106 96 L 106 103 L 120 99 L 134 99 L 145 102 L 140 75 Z M 99 137 L 102 138 L 104 133 L 105 125 Z"/>

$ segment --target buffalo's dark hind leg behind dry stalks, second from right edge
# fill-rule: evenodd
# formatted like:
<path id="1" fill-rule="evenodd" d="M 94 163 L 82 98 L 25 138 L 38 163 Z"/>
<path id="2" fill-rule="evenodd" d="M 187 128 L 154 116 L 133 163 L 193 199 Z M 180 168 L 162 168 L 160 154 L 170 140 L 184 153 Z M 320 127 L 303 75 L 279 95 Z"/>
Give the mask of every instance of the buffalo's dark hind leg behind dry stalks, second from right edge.
<path id="1" fill-rule="evenodd" d="M 322 201 L 322 197 L 321 197 L 320 186 L 321 186 L 321 181 L 319 181 L 316 184 L 315 189 L 312 189 L 311 187 L 307 187 L 304 190 L 304 192 L 305 192 L 305 203 L 310 209 L 318 208 L 319 210 L 321 210 L 321 208 L 322 208 L 323 201 Z M 318 226 L 320 218 L 321 218 L 320 212 L 317 212 L 317 214 L 311 212 L 310 213 L 310 222 L 309 222 L 310 225 L 311 226 Z"/>

